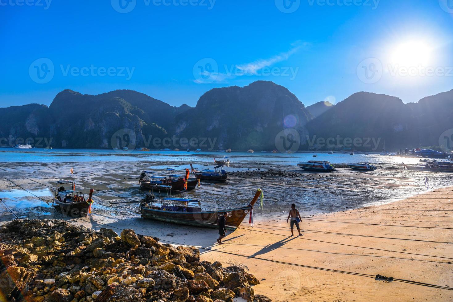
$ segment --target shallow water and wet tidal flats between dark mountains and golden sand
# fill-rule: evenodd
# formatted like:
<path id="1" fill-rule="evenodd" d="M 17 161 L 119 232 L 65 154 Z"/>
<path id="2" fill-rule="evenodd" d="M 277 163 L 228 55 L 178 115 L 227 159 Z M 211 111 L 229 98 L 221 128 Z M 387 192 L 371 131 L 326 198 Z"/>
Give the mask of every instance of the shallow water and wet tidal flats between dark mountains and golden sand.
<path id="1" fill-rule="evenodd" d="M 417 163 L 416 158 L 378 154 L 316 153 L 318 158 L 313 158 L 314 153 L 122 152 L 0 148 L 0 191 L 3 191 L 0 192 L 3 200 L 0 215 L 11 215 L 6 206 L 20 215 L 27 212 L 30 215 L 41 212 L 49 215 L 54 211 L 49 204 L 14 187 L 7 179 L 20 182 L 24 189 L 46 200 L 53 196 L 55 181 L 72 179 L 77 182 L 78 190 L 88 193 L 89 188 L 95 189 L 93 212 L 96 215 L 115 216 L 117 219 L 135 216 L 138 209 L 136 203 L 110 205 L 110 202 L 126 201 L 124 198 L 138 201 L 144 197 L 146 191 L 140 190 L 137 181 L 125 181 L 124 177 L 137 177 L 143 170 L 165 175 L 163 169 L 167 167 L 176 170 L 171 174 L 182 175 L 185 168 L 190 168 L 189 163 L 196 168 L 213 168 L 213 158 L 224 156 L 229 156 L 231 160 L 231 164 L 224 167 L 228 173 L 245 172 L 249 176 L 246 179 L 230 176 L 223 184 L 202 183 L 195 191 L 175 197 L 198 199 L 202 201 L 204 210 L 227 209 L 247 205 L 259 187 L 264 191 L 264 203 L 263 209 L 255 206 L 256 214 L 275 215 L 287 211 L 291 203 L 296 203 L 302 215 L 307 216 L 388 202 L 447 186 L 452 180 L 451 173 L 402 170 L 401 162 Z M 364 173 L 339 168 L 337 173 L 308 173 L 297 166 L 299 162 L 313 159 L 331 163 L 369 161 L 375 163 L 378 170 Z M 69 173 L 71 168 L 74 174 Z M 268 169 L 284 173 L 263 177 L 262 174 L 266 174 Z M 424 185 L 425 176 L 429 177 L 429 188 Z"/>

